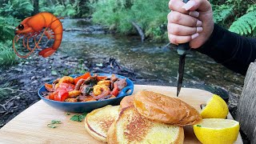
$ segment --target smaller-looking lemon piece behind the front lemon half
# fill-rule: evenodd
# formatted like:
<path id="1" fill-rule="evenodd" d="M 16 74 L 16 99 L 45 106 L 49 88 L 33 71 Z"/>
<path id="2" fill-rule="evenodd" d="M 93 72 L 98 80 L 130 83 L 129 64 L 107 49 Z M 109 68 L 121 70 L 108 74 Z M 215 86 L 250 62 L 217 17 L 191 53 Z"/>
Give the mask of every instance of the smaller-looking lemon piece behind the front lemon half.
<path id="1" fill-rule="evenodd" d="M 228 113 L 229 108 L 226 102 L 220 96 L 214 94 L 200 114 L 202 118 L 226 118 Z"/>

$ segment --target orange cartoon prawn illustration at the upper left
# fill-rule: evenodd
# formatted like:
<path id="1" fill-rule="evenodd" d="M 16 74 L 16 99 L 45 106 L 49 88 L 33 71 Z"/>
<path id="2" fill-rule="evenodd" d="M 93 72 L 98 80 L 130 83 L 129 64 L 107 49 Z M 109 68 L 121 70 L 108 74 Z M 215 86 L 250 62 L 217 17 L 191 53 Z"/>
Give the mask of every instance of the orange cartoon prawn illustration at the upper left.
<path id="1" fill-rule="evenodd" d="M 42 12 L 39 14 L 35 14 L 32 17 L 25 18 L 17 26 L 15 31 L 15 37 L 13 40 L 13 48 L 14 48 L 15 54 L 17 54 L 18 57 L 20 58 L 27 58 L 30 54 L 34 52 L 36 48 L 40 48 L 38 44 L 41 41 L 43 34 L 46 34 L 46 37 L 48 39 L 54 38 L 54 44 L 49 48 L 41 50 L 38 54 L 42 55 L 43 58 L 49 57 L 51 54 L 54 54 L 54 52 L 58 49 L 58 47 L 61 45 L 61 42 L 62 42 L 63 29 L 62 29 L 62 22 L 60 22 L 59 19 L 62 19 L 62 18 L 56 18 L 54 14 L 50 14 L 48 12 Z M 38 42 L 36 42 L 37 36 L 42 31 L 43 33 L 41 37 L 39 38 Z M 23 46 L 26 47 L 28 50 L 30 50 L 29 54 L 20 55 L 18 54 L 18 51 L 15 49 L 15 42 L 18 42 L 19 38 L 21 37 L 23 38 L 22 40 Z M 35 46 L 33 49 L 31 49 L 29 46 L 30 38 L 34 38 Z M 25 42 L 25 39 L 27 42 Z"/>

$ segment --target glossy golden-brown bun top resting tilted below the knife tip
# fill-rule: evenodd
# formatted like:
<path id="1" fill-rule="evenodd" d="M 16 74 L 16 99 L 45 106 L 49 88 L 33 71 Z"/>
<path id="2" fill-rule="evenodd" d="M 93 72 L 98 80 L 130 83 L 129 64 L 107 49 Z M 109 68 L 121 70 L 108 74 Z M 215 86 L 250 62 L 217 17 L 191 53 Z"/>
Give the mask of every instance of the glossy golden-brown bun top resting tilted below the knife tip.
<path id="1" fill-rule="evenodd" d="M 135 94 L 134 107 L 139 114 L 155 122 L 186 126 L 202 121 L 201 115 L 193 106 L 178 98 L 170 98 L 153 91 L 140 91 Z"/>

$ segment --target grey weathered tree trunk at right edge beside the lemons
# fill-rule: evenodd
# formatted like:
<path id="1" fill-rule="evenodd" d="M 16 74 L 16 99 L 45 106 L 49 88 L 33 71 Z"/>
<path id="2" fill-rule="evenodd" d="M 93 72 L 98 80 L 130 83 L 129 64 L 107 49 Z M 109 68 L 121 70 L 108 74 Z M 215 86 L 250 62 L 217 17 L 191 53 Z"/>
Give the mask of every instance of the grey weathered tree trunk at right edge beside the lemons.
<path id="1" fill-rule="evenodd" d="M 256 143 L 256 62 L 247 70 L 236 119 L 250 142 Z"/>

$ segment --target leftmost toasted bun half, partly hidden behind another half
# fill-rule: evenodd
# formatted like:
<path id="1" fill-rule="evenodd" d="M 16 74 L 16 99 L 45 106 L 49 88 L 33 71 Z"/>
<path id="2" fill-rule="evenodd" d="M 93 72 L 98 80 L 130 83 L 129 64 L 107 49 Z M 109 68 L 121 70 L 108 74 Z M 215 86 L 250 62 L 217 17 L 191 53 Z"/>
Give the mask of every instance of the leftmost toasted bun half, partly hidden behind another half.
<path id="1" fill-rule="evenodd" d="M 99 141 L 106 142 L 106 133 L 111 124 L 118 118 L 119 106 L 105 106 L 86 115 L 86 131 Z"/>

